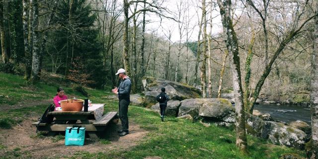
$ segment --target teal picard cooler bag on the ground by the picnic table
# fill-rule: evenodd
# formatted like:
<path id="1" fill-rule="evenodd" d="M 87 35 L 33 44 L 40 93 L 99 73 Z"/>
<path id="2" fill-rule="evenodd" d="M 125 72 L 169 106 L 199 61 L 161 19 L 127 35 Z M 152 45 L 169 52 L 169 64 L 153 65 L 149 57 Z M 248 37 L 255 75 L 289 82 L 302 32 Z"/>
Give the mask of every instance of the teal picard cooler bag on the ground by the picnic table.
<path id="1" fill-rule="evenodd" d="M 65 130 L 65 146 L 83 146 L 85 128 L 67 127 Z"/>

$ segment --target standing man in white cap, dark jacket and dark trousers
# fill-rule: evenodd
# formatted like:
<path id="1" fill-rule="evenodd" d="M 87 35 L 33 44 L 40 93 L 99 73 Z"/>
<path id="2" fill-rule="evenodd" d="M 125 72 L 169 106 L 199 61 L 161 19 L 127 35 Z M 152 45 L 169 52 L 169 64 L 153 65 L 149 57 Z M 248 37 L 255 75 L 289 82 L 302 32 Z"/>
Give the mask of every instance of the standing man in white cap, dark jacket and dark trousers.
<path id="1" fill-rule="evenodd" d="M 129 134 L 128 131 L 128 105 L 130 103 L 130 90 L 131 90 L 131 80 L 126 75 L 124 69 L 119 69 L 115 75 L 119 76 L 121 80 L 118 88 L 115 87 L 111 91 L 118 95 L 119 99 L 119 118 L 122 125 L 122 130 L 118 131 L 119 136 L 125 136 Z"/>

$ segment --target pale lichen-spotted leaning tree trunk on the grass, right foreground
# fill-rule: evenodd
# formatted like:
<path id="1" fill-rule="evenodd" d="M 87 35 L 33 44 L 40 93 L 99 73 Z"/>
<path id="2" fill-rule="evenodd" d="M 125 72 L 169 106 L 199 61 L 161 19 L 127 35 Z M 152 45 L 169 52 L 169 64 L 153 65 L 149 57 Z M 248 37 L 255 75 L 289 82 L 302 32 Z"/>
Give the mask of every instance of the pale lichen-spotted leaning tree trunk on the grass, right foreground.
<path id="1" fill-rule="evenodd" d="M 247 149 L 247 139 L 245 131 L 245 112 L 244 112 L 244 103 L 243 103 L 243 93 L 242 85 L 240 79 L 240 66 L 239 66 L 239 47 L 238 39 L 233 28 L 232 18 L 231 18 L 231 0 L 217 0 L 222 25 L 226 33 L 226 45 L 229 51 L 230 63 L 231 63 L 231 72 L 233 77 L 233 88 L 234 88 L 234 97 L 235 97 L 235 114 L 236 114 L 236 135 L 237 141 L 236 145 L 240 150 L 246 151 Z"/>

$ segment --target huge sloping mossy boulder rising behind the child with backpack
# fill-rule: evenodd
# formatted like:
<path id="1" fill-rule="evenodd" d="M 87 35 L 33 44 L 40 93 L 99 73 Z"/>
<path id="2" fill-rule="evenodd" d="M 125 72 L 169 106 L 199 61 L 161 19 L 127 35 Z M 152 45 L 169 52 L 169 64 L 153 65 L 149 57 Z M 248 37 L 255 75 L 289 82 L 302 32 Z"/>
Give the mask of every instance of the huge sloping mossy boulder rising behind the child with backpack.
<path id="1" fill-rule="evenodd" d="M 160 93 L 161 87 L 165 88 L 165 92 L 172 100 L 201 97 L 201 91 L 193 86 L 154 77 L 143 77 L 143 86 L 146 104 L 157 103 L 156 96 Z"/>

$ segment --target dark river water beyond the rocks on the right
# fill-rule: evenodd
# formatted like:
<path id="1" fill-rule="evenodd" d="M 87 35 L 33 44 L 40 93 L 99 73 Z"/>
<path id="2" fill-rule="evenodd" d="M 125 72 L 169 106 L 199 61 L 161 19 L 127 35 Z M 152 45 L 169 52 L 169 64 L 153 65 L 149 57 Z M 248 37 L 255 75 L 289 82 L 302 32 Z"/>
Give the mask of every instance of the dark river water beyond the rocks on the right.
<path id="1" fill-rule="evenodd" d="M 260 103 L 254 106 L 255 110 L 261 113 L 269 113 L 274 120 L 290 123 L 291 121 L 302 120 L 311 124 L 310 108 L 300 105 L 276 105 Z"/>

